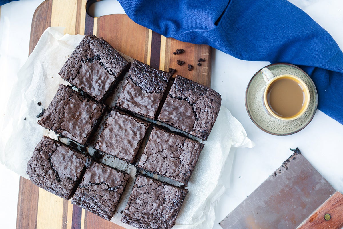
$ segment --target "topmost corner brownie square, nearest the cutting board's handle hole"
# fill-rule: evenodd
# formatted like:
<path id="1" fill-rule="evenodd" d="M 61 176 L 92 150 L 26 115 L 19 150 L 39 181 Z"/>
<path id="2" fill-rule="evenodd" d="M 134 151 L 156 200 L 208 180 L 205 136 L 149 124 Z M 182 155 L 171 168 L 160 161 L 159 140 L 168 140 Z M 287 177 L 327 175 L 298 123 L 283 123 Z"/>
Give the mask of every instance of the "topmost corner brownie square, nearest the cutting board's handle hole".
<path id="1" fill-rule="evenodd" d="M 85 36 L 69 56 L 59 75 L 103 102 L 130 64 L 103 38 Z"/>

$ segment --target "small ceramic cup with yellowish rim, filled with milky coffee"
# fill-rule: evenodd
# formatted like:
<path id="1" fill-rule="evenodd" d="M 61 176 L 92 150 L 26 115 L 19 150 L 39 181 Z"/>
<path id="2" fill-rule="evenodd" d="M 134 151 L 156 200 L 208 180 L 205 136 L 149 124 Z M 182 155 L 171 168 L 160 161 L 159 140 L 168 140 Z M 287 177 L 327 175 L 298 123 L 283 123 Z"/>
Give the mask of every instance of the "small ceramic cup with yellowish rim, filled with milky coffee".
<path id="1" fill-rule="evenodd" d="M 305 113 L 310 92 L 304 81 L 293 75 L 274 76 L 268 68 L 262 68 L 261 73 L 266 83 L 263 105 L 271 116 L 293 120 Z"/>

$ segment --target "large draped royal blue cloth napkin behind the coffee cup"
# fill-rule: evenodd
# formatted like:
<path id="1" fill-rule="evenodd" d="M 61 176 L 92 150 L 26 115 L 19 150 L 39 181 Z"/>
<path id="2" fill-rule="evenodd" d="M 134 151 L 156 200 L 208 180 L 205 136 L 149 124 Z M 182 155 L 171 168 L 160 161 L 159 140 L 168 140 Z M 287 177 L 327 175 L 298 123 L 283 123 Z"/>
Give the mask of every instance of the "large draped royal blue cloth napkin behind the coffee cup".
<path id="1" fill-rule="evenodd" d="M 286 0 L 119 0 L 136 23 L 243 60 L 286 62 L 314 81 L 318 109 L 343 124 L 343 53 Z"/>

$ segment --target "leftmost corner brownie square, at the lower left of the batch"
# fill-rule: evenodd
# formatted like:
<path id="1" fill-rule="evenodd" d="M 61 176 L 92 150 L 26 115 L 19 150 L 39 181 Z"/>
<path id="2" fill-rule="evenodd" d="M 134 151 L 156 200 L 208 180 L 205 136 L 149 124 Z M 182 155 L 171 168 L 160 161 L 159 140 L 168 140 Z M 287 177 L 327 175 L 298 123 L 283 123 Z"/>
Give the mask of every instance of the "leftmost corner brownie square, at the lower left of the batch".
<path id="1" fill-rule="evenodd" d="M 87 157 L 63 143 L 43 137 L 27 163 L 32 183 L 64 199 L 70 199 L 86 170 Z"/>

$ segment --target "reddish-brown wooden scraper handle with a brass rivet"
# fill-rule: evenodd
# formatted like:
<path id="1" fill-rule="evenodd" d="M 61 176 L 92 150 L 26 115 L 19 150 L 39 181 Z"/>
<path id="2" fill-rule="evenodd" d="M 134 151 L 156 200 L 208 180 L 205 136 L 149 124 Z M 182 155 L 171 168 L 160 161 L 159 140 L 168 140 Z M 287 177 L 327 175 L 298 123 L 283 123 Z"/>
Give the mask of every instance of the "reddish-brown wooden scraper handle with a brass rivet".
<path id="1" fill-rule="evenodd" d="M 335 192 L 296 229 L 341 229 L 343 195 Z"/>

